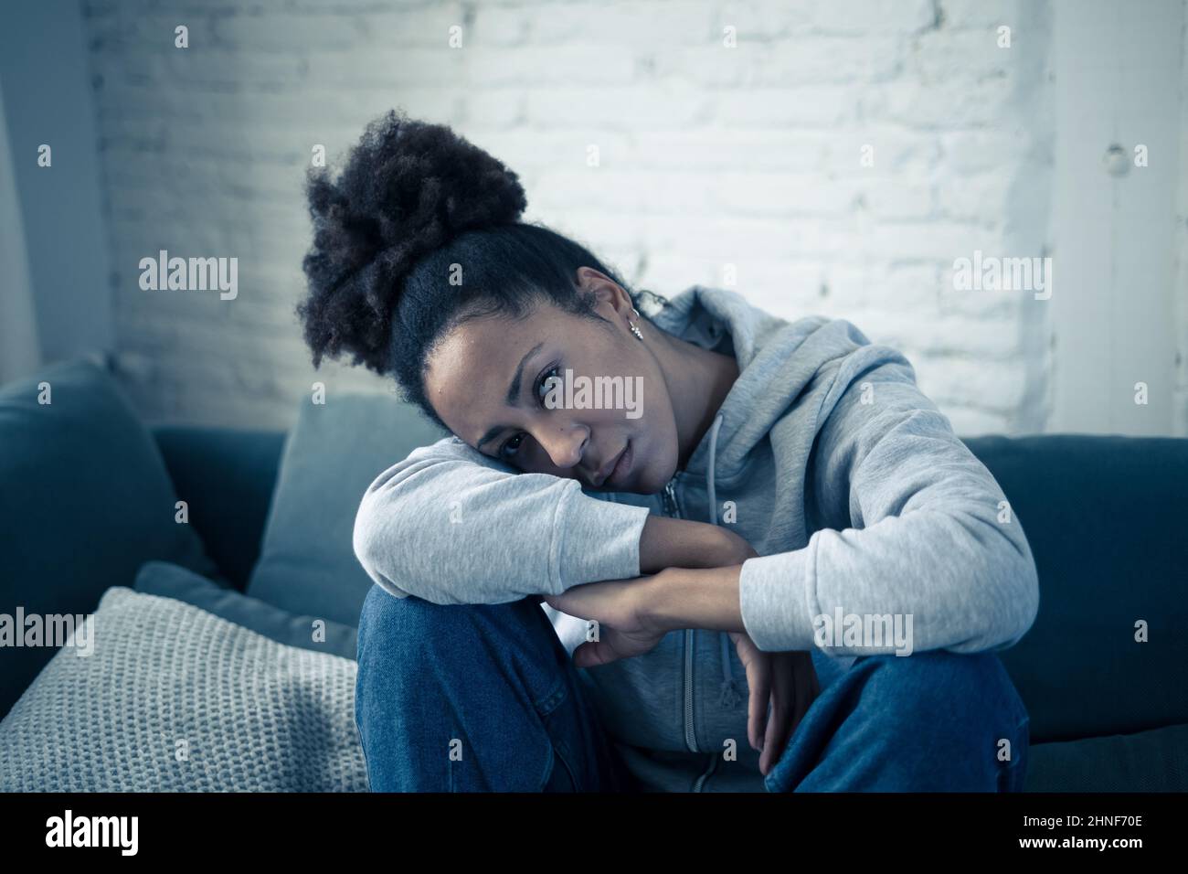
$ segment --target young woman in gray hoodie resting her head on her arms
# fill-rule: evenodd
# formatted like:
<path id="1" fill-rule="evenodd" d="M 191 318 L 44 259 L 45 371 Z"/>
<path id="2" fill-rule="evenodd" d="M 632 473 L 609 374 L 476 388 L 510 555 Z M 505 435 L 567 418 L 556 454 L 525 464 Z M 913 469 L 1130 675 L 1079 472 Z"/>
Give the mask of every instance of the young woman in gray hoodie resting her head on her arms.
<path id="1" fill-rule="evenodd" d="M 1031 551 L 902 354 L 633 290 L 394 112 L 309 200 L 315 366 L 453 434 L 356 517 L 373 790 L 1020 788 Z"/>

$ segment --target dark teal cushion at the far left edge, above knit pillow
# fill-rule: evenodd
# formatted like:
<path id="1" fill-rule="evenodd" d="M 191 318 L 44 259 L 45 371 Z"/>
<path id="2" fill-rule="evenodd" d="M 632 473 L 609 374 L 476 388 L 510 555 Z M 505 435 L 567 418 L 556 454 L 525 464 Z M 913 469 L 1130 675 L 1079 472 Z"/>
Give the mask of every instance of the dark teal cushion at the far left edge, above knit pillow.
<path id="1" fill-rule="evenodd" d="M 0 614 L 90 612 L 151 559 L 217 573 L 194 529 L 175 521 L 178 496 L 152 435 L 89 359 L 0 389 Z M 0 648 L 0 715 L 52 655 Z"/>

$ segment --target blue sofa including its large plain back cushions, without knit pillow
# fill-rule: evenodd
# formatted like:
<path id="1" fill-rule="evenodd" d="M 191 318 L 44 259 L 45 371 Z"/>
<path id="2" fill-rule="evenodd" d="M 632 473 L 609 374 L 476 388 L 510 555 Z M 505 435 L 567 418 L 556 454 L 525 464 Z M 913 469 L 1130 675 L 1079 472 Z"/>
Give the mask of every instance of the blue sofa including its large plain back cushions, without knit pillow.
<path id="1" fill-rule="evenodd" d="M 52 405 L 36 400 L 43 378 Z M 91 611 L 168 561 L 247 592 L 233 622 L 323 617 L 349 656 L 371 587 L 349 549 L 353 509 L 385 464 L 440 434 L 398 403 L 339 395 L 324 409 L 304 404 L 289 434 L 145 428 L 101 366 L 0 388 L 0 612 Z M 1026 788 L 1188 790 L 1188 440 L 966 444 L 1040 571 L 1036 622 L 1000 653 L 1031 715 Z M 175 524 L 179 496 L 188 526 Z M 0 650 L 0 717 L 51 656 Z"/>

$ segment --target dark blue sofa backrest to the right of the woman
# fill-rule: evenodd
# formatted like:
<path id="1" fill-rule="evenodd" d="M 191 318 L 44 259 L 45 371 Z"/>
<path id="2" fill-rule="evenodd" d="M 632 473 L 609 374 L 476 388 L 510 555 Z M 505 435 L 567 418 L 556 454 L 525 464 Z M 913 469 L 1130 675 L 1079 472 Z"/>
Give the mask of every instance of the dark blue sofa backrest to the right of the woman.
<path id="1" fill-rule="evenodd" d="M 966 441 L 1023 524 L 1040 612 L 1000 653 L 1034 743 L 1188 723 L 1188 440 Z M 1136 640 L 1145 623 L 1146 640 Z"/>

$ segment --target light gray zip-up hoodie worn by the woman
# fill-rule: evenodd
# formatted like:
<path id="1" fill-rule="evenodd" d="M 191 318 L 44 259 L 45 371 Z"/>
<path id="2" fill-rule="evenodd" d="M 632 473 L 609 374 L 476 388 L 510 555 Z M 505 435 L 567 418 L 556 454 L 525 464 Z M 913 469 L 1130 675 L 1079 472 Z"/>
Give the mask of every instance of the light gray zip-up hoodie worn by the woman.
<path id="1" fill-rule="evenodd" d="M 1004 649 L 1038 610 L 1022 524 L 986 467 L 893 348 L 843 319 L 788 322 L 735 291 L 695 285 L 647 315 L 733 354 L 739 378 L 684 470 L 657 495 L 586 491 L 523 473 L 456 436 L 415 449 L 368 486 L 364 568 L 397 597 L 494 604 L 639 576 L 647 514 L 731 524 L 759 553 L 740 609 L 764 650 L 858 655 Z M 568 652 L 586 623 L 543 609 Z M 892 617 L 901 635 L 854 639 Z M 829 629 L 836 630 L 828 636 Z M 725 633 L 668 634 L 650 653 L 579 669 L 645 788 L 763 791 L 747 685 Z"/>

